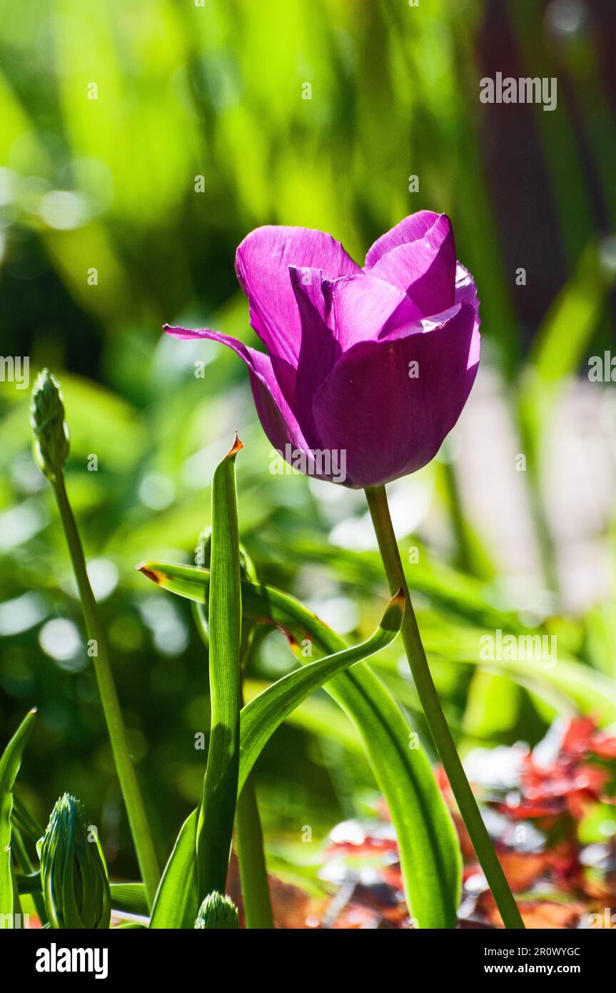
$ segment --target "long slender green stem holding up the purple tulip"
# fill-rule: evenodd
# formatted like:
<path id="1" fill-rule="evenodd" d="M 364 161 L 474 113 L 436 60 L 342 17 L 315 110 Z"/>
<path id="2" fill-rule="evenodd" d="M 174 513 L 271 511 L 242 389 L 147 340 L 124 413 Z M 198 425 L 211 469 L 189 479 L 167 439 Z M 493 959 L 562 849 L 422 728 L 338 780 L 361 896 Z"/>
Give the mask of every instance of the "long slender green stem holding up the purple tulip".
<path id="1" fill-rule="evenodd" d="M 466 825 L 492 896 L 506 927 L 522 928 L 524 922 L 513 898 L 509 883 L 492 846 L 477 806 L 477 801 L 466 779 L 451 732 L 440 706 L 436 687 L 426 658 L 426 651 L 418 628 L 409 587 L 405 578 L 400 550 L 392 525 L 385 487 L 366 488 L 370 516 L 379 543 L 379 551 L 392 594 L 403 588 L 407 606 L 402 624 L 402 637 L 409 659 L 409 666 L 431 730 L 431 736 L 440 756 L 443 769 L 451 785 L 460 814 Z"/>

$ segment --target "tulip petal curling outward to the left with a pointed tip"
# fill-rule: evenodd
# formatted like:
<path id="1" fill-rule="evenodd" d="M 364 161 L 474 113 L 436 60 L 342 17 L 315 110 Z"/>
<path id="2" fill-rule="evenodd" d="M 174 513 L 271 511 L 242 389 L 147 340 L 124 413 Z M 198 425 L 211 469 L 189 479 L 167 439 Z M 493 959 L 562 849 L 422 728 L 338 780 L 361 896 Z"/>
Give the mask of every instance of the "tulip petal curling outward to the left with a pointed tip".
<path id="1" fill-rule="evenodd" d="M 239 355 L 248 366 L 257 414 L 274 448 L 284 452 L 285 446 L 289 443 L 293 448 L 308 450 L 300 425 L 283 395 L 269 355 L 248 348 L 237 338 L 207 328 L 192 331 L 188 328 L 172 328 L 166 324 L 164 330 L 174 338 L 204 338 L 211 342 L 219 342 Z"/>

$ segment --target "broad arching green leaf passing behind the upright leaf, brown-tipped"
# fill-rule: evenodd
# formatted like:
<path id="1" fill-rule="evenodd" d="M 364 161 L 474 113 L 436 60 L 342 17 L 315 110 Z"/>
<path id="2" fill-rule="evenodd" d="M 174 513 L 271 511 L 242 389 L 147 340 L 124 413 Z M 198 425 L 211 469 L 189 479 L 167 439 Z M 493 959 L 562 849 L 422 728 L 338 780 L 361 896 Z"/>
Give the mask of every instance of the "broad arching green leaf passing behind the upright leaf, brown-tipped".
<path id="1" fill-rule="evenodd" d="M 209 574 L 194 566 L 149 562 L 141 571 L 165 589 L 205 603 Z M 242 581 L 245 617 L 274 624 L 298 643 L 311 638 L 324 653 L 347 647 L 342 638 L 293 597 L 274 587 Z M 398 704 L 363 662 L 324 686 L 354 724 L 383 792 L 398 843 L 405 895 L 421 927 L 454 927 L 461 856 L 451 818 L 430 762 Z"/>

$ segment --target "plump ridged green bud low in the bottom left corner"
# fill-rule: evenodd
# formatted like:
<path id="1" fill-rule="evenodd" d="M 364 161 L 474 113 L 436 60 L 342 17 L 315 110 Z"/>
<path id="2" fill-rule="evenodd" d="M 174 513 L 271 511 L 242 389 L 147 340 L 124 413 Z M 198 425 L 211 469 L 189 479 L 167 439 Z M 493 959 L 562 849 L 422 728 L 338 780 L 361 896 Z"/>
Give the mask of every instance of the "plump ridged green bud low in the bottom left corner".
<path id="1" fill-rule="evenodd" d="M 95 837 L 89 840 L 83 804 L 64 793 L 39 841 L 43 897 L 52 927 L 109 927 L 107 867 Z"/>

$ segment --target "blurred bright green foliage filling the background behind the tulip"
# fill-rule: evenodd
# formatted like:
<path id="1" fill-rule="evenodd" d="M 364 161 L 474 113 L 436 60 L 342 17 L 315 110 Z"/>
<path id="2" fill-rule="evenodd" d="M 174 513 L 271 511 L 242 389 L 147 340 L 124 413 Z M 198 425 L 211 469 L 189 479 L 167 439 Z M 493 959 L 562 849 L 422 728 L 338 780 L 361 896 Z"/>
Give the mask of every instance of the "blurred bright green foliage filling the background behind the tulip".
<path id="1" fill-rule="evenodd" d="M 161 334 L 185 323 L 253 341 L 233 254 L 257 224 L 329 230 L 361 260 L 407 213 L 451 215 L 482 301 L 484 361 L 528 454 L 554 595 L 537 630 L 557 633 L 558 663 L 477 671 L 481 635 L 525 631 L 528 618 L 503 592 L 455 462 L 439 460 L 402 492 L 428 490 L 451 540 L 400 533 L 420 551 L 409 573 L 434 676 L 463 748 L 535 742 L 575 708 L 614 720 L 613 590 L 587 617 L 562 616 L 541 486 L 556 399 L 612 334 L 616 129 L 598 30 L 609 12 L 580 7 L 569 30 L 562 4 L 540 0 L 4 2 L 0 351 L 28 355 L 31 379 L 46 364 L 62 381 L 67 489 L 162 856 L 198 798 L 206 660 L 186 605 L 134 567 L 194 561 L 235 429 L 241 536 L 261 578 L 350 640 L 375 626 L 385 598 L 369 545 L 331 540 L 350 524 L 362 547 L 361 495 L 272 475 L 242 363 Z M 480 76 L 505 64 L 557 72 L 557 110 L 483 107 Z M 112 875 L 134 876 L 62 532 L 30 454 L 28 390 L 1 381 L 0 411 L 0 738 L 39 707 L 24 795 L 44 822 L 59 794 L 79 795 Z M 611 521 L 604 540 L 611 555 Z M 425 732 L 399 655 L 394 646 L 375 666 Z M 251 685 L 293 664 L 283 636 L 262 631 Z M 258 773 L 283 873 L 291 847 L 296 861 L 315 859 L 299 844 L 304 825 L 317 841 L 373 798 L 351 726 L 324 694 L 277 732 Z"/>

